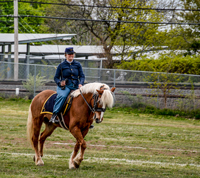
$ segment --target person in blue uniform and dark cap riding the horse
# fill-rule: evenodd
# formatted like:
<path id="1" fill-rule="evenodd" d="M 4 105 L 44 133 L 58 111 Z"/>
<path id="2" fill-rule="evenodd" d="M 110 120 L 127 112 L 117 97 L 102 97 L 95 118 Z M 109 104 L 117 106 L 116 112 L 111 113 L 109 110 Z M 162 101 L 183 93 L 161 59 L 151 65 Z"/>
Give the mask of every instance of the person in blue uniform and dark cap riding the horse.
<path id="1" fill-rule="evenodd" d="M 57 84 L 57 97 L 53 107 L 53 115 L 49 122 L 58 123 L 57 115 L 71 90 L 76 90 L 84 84 L 85 75 L 82 66 L 74 60 L 73 47 L 65 49 L 66 60 L 58 65 L 54 81 Z"/>

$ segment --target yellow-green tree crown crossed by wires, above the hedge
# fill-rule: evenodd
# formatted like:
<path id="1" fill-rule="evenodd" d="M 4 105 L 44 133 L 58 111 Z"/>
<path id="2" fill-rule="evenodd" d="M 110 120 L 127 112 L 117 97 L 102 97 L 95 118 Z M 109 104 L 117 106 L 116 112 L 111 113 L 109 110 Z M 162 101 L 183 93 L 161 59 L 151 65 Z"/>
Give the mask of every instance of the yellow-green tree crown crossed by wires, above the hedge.
<path id="1" fill-rule="evenodd" d="M 135 8 L 152 8 L 157 3 L 156 1 L 142 1 L 141 3 L 141 1 L 136 0 L 125 2 L 126 1 L 123 1 L 124 6 Z M 116 11 L 123 14 L 123 20 L 125 21 L 158 22 L 162 21 L 163 18 L 162 13 L 157 11 L 122 9 Z M 115 43 L 121 48 L 121 61 L 131 55 L 135 58 L 135 54 L 140 54 L 145 50 L 159 48 L 165 35 L 159 32 L 158 28 L 158 24 L 123 23 L 119 29 L 120 33 L 118 40 Z"/>

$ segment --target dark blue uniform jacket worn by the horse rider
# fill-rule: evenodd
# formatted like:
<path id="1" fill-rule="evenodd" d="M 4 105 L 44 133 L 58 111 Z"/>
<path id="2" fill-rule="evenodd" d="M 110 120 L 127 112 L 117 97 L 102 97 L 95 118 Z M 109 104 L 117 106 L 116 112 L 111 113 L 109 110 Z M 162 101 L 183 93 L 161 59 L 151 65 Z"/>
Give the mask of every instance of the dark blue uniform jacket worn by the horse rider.
<path id="1" fill-rule="evenodd" d="M 61 77 L 61 66 L 63 78 Z M 84 84 L 85 75 L 83 73 L 82 66 L 79 62 L 73 60 L 72 63 L 69 63 L 65 60 L 64 62 L 58 65 L 56 74 L 54 76 L 54 81 L 58 86 L 60 86 L 60 81 L 66 78 L 68 79 L 66 85 L 70 85 L 71 83 L 73 83 L 74 86 L 78 88 L 78 84 Z"/>

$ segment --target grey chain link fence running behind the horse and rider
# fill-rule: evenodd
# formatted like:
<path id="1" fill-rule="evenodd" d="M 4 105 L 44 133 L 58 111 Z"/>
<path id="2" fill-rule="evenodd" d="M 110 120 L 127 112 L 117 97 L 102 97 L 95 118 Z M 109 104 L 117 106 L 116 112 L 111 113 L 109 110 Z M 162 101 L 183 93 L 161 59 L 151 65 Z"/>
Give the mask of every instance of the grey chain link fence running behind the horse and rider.
<path id="1" fill-rule="evenodd" d="M 54 75 L 56 65 L 38 65 L 12 62 L 0 62 L 0 82 L 22 82 L 26 83 L 32 77 L 33 96 L 45 89 L 56 90 Z M 18 70 L 18 74 L 14 71 Z M 116 100 L 118 103 L 133 104 L 135 102 L 149 103 L 160 108 L 173 108 L 180 103 L 187 103 L 193 108 L 199 106 L 200 98 L 200 76 L 187 74 L 170 74 L 161 72 L 132 71 L 105 68 L 86 68 L 83 67 L 85 82 L 102 82 L 111 87 L 117 87 Z M 40 86 L 41 83 L 51 83 Z M 3 91 L 14 90 L 19 88 L 25 91 L 23 85 L 5 85 L 1 84 L 0 89 Z M 142 100 L 141 100 L 142 97 Z M 140 101 L 139 99 L 140 98 Z M 188 98 L 190 98 L 188 100 Z M 187 99 L 187 102 L 186 102 Z M 179 101 L 178 101 L 179 100 Z M 175 102 L 176 101 L 176 102 Z M 185 106 L 181 106 L 185 107 Z"/>

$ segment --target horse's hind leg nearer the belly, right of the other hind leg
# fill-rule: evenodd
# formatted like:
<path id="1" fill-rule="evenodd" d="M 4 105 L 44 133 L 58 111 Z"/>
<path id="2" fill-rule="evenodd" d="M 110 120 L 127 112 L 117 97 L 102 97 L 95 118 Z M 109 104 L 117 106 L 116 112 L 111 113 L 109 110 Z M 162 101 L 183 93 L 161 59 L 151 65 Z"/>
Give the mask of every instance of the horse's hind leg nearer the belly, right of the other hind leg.
<path id="1" fill-rule="evenodd" d="M 43 147 L 44 147 L 44 142 L 47 137 L 49 137 L 53 131 L 56 129 L 56 126 L 50 123 L 45 123 L 45 130 L 41 133 L 40 135 L 40 156 L 43 156 Z"/>

